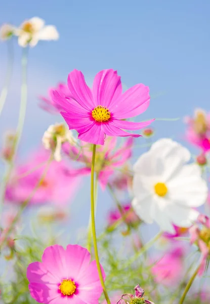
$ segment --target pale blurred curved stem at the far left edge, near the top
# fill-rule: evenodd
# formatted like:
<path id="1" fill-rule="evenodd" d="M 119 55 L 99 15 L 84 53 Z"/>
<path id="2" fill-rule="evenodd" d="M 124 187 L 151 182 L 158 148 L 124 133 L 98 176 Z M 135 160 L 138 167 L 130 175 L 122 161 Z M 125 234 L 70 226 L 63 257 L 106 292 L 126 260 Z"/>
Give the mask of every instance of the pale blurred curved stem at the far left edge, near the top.
<path id="1" fill-rule="evenodd" d="M 0 95 L 0 115 L 5 105 L 5 101 L 7 99 L 7 94 L 10 86 L 10 81 L 12 77 L 12 70 L 13 70 L 13 61 L 14 61 L 14 50 L 13 50 L 13 42 L 12 40 L 8 41 L 8 63 L 7 63 L 7 73 L 5 78 L 5 85 L 2 89 Z"/>

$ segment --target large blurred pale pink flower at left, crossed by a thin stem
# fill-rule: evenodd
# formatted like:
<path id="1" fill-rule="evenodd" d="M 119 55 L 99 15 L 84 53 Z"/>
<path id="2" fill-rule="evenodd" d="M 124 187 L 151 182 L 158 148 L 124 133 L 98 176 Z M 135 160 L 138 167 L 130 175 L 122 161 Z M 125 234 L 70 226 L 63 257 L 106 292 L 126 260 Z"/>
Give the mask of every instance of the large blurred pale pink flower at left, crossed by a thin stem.
<path id="1" fill-rule="evenodd" d="M 8 184 L 6 199 L 12 203 L 23 203 L 31 195 L 45 172 L 50 152 L 40 149 L 32 154 L 25 164 L 14 169 Z M 49 169 L 30 200 L 30 204 L 47 202 L 64 204 L 75 194 L 79 177 L 70 174 L 71 167 L 65 161 L 52 161 Z"/>

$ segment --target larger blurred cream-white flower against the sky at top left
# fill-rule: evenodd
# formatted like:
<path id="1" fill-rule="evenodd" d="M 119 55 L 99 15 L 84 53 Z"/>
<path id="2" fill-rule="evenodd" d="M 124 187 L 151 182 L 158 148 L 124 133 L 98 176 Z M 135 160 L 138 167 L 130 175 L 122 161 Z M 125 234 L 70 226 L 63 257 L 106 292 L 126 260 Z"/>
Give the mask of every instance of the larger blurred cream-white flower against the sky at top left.
<path id="1" fill-rule="evenodd" d="M 24 21 L 15 30 L 18 36 L 18 44 L 21 47 L 34 47 L 39 40 L 58 40 L 59 33 L 54 25 L 45 25 L 45 21 L 38 17 L 33 17 Z"/>

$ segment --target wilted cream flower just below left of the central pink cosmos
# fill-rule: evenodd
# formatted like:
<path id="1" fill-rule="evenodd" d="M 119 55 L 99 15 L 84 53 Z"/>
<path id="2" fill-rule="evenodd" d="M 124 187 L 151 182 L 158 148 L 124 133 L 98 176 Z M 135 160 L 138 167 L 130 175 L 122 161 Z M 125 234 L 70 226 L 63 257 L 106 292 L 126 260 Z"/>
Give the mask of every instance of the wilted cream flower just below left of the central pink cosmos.
<path id="1" fill-rule="evenodd" d="M 64 124 L 51 125 L 43 136 L 43 144 L 46 149 L 52 150 L 54 159 L 57 162 L 61 161 L 61 146 L 62 143 L 69 142 L 75 145 L 76 139 L 72 132 Z"/>

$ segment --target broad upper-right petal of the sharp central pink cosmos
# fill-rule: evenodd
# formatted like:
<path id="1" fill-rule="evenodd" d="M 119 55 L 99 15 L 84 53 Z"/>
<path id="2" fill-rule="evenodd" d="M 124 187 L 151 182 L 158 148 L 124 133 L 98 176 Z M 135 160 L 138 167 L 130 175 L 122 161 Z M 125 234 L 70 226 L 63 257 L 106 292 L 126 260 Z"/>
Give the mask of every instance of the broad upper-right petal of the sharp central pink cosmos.
<path id="1" fill-rule="evenodd" d="M 109 110 L 116 119 L 125 119 L 143 113 L 149 106 L 149 87 L 136 85 L 125 91 L 120 98 L 113 101 Z"/>

